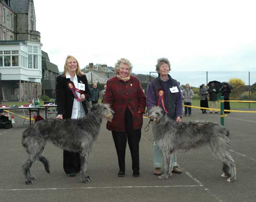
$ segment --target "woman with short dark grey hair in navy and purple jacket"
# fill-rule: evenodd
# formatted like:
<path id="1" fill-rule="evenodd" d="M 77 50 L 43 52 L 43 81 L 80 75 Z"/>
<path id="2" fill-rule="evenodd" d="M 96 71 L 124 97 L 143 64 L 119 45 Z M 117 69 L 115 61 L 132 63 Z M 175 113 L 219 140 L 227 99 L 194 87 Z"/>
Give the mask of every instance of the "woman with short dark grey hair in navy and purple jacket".
<path id="1" fill-rule="evenodd" d="M 170 118 L 180 122 L 182 114 L 182 97 L 179 84 L 169 75 L 169 72 L 171 71 L 169 60 L 167 58 L 158 59 L 156 71 L 158 72 L 158 77 L 148 84 L 146 101 L 147 111 L 149 112 L 153 106 L 158 105 L 165 110 Z M 155 142 L 153 147 L 153 161 L 154 174 L 161 175 L 162 152 Z M 177 167 L 176 155 L 172 166 L 172 172 L 182 173 Z"/>

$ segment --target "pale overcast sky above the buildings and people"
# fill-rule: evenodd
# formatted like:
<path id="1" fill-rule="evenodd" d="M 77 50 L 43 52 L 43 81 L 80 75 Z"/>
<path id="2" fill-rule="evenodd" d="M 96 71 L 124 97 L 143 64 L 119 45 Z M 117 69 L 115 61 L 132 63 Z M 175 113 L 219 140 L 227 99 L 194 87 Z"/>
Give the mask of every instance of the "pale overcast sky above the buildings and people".
<path id="1" fill-rule="evenodd" d="M 34 0 L 34 5 L 42 50 L 60 71 L 73 55 L 81 68 L 91 62 L 114 66 L 127 58 L 133 72 L 143 74 L 154 72 L 157 59 L 165 57 L 170 75 L 184 72 L 180 78 L 198 71 L 256 72 L 255 0 Z"/>

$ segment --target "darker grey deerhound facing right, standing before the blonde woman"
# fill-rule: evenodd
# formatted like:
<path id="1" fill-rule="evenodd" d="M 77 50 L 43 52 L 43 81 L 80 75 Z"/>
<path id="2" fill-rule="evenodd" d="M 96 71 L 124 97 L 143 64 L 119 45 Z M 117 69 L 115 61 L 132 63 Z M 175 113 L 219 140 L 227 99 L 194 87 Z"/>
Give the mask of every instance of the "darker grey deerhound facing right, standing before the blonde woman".
<path id="1" fill-rule="evenodd" d="M 113 110 L 107 104 L 93 105 L 90 113 L 80 119 L 45 119 L 28 127 L 22 136 L 22 145 L 29 155 L 22 166 L 25 183 L 33 184 L 35 176 L 30 174 L 30 167 L 35 160 L 44 164 L 49 173 L 49 162 L 42 156 L 45 144 L 51 141 L 64 150 L 79 152 L 81 156 L 81 182 L 90 182 L 90 176 L 85 176 L 87 159 L 98 134 L 102 119 L 111 121 Z"/>

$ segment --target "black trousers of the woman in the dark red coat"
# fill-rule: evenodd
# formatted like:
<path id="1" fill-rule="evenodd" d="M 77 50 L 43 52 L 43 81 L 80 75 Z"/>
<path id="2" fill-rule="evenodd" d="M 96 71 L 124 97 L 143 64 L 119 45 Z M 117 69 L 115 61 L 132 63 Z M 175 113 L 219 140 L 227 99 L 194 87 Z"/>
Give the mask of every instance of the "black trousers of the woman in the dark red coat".
<path id="1" fill-rule="evenodd" d="M 132 170 L 140 170 L 139 143 L 141 130 L 134 130 L 132 114 L 127 107 L 125 109 L 125 132 L 112 131 L 112 136 L 116 147 L 119 170 L 125 171 L 125 149 L 127 140 L 131 151 Z"/>

